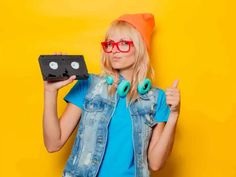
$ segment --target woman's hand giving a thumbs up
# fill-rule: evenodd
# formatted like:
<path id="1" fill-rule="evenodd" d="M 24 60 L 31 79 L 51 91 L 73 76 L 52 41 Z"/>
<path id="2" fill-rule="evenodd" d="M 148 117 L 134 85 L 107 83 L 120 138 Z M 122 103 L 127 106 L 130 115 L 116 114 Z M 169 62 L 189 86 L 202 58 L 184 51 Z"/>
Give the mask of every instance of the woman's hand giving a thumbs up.
<path id="1" fill-rule="evenodd" d="M 180 91 L 177 88 L 179 81 L 175 80 L 172 87 L 166 89 L 166 103 L 170 107 L 171 113 L 179 115 L 180 111 Z"/>

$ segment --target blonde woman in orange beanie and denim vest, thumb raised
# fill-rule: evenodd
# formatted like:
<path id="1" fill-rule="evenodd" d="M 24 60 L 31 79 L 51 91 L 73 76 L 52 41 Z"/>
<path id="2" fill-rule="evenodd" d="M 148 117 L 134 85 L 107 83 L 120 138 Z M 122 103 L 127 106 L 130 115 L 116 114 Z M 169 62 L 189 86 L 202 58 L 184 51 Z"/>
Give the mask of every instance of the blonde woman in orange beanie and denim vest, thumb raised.
<path id="1" fill-rule="evenodd" d="M 78 81 L 57 116 L 57 93 L 75 76 L 44 82 L 44 143 L 62 148 L 79 124 L 64 177 L 148 177 L 169 156 L 180 110 L 178 81 L 164 92 L 151 87 L 152 14 L 114 20 L 102 42 L 102 73 Z M 81 116 L 82 115 L 82 116 Z"/>

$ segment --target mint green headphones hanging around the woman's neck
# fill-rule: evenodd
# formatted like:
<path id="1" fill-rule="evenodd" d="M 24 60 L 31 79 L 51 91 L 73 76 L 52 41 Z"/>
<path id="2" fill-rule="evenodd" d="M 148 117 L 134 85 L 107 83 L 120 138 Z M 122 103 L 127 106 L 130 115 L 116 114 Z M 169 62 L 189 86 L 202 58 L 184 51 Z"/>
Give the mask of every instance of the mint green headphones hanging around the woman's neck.
<path id="1" fill-rule="evenodd" d="M 114 82 L 114 79 L 112 76 L 107 76 L 106 77 L 106 82 L 108 85 L 112 85 Z M 138 84 L 137 90 L 138 93 L 141 95 L 144 95 L 145 93 L 147 93 L 150 89 L 151 89 L 152 83 L 150 81 L 150 79 L 145 78 L 142 82 L 140 82 Z M 121 82 L 119 82 L 118 86 L 117 86 L 117 92 L 118 95 L 120 95 L 121 97 L 125 97 L 127 95 L 127 93 L 130 90 L 130 82 L 127 80 L 122 80 Z"/>

